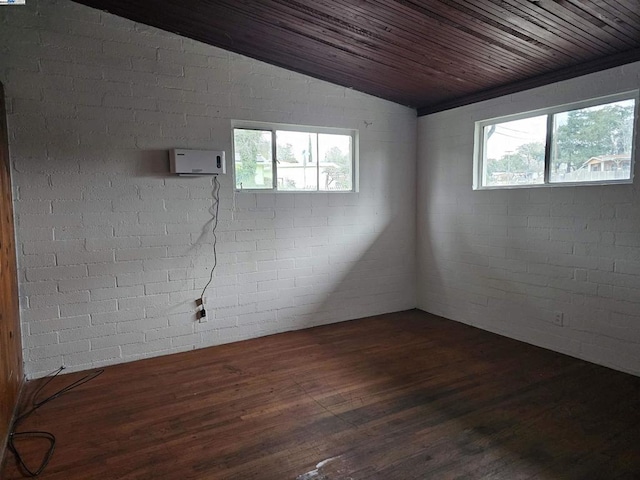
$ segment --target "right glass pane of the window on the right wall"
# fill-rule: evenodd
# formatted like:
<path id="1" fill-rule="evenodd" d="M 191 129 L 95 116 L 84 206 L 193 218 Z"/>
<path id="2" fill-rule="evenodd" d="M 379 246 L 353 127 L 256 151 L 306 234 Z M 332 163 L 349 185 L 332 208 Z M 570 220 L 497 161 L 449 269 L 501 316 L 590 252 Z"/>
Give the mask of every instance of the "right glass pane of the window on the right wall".
<path id="1" fill-rule="evenodd" d="M 634 109 L 630 99 L 554 115 L 550 181 L 630 179 Z"/>

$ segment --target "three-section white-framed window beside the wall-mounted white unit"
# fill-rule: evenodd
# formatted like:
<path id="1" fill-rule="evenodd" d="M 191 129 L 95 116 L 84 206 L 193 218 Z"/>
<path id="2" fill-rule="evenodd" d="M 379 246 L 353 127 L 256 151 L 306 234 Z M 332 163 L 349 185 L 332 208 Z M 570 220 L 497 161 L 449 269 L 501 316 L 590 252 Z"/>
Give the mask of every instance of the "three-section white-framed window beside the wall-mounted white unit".
<path id="1" fill-rule="evenodd" d="M 357 131 L 234 122 L 238 190 L 356 191 Z"/>

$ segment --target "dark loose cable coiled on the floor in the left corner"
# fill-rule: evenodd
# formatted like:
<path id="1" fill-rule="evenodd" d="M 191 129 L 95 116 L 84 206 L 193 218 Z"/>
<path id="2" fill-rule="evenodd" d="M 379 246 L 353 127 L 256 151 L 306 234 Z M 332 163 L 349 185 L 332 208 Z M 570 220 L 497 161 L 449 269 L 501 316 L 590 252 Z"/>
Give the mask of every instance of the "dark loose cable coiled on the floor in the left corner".
<path id="1" fill-rule="evenodd" d="M 46 382 L 44 382 L 42 385 L 40 385 L 38 390 L 36 390 L 36 392 L 34 393 L 34 395 L 33 395 L 33 404 L 31 406 L 31 408 L 28 409 L 26 412 L 20 414 L 15 419 L 15 421 L 13 422 L 13 425 L 11 426 L 11 432 L 9 433 L 9 439 L 7 441 L 7 446 L 9 447 L 9 449 L 13 452 L 14 456 L 16 457 L 16 461 L 18 462 L 18 466 L 30 477 L 37 477 L 38 475 L 40 475 L 44 471 L 44 469 L 47 467 L 47 465 L 49 464 L 49 460 L 51 460 L 51 457 L 53 455 L 53 451 L 56 448 L 56 437 L 52 433 L 42 432 L 42 431 L 37 431 L 37 430 L 26 431 L 26 432 L 16 432 L 16 429 L 18 428 L 18 426 L 24 420 L 29 418 L 33 413 L 35 413 L 36 410 L 38 410 L 43 405 L 49 403 L 52 400 L 55 400 L 60 395 L 63 395 L 65 393 L 73 390 L 74 388 L 79 387 L 80 385 L 83 385 L 83 384 L 87 383 L 90 380 L 93 380 L 98 375 L 101 375 L 102 372 L 104 372 L 103 369 L 93 370 L 92 372 L 89 372 L 88 374 L 86 374 L 84 377 L 76 380 L 75 382 L 70 383 L 66 387 L 61 388 L 60 390 L 58 390 L 54 394 L 49 395 L 44 400 L 37 401 L 38 395 L 40 394 L 40 392 L 42 392 L 42 390 L 44 390 L 44 388 L 47 385 L 49 385 L 49 383 L 51 383 L 51 381 L 54 378 L 56 378 L 58 376 L 58 374 L 60 372 L 62 372 L 62 370 L 64 370 L 64 367 L 60 367 L 53 374 L 49 375 L 48 380 Z M 18 438 L 41 438 L 41 439 L 45 439 L 45 440 L 47 440 L 49 442 L 49 448 L 48 448 L 47 452 L 45 453 L 45 455 L 43 457 L 42 463 L 40 464 L 40 466 L 37 469 L 31 470 L 27 466 L 27 464 L 25 463 L 25 461 L 22 458 L 22 456 L 20 455 L 20 452 L 18 452 L 18 449 L 15 446 L 15 440 L 18 439 Z"/>

